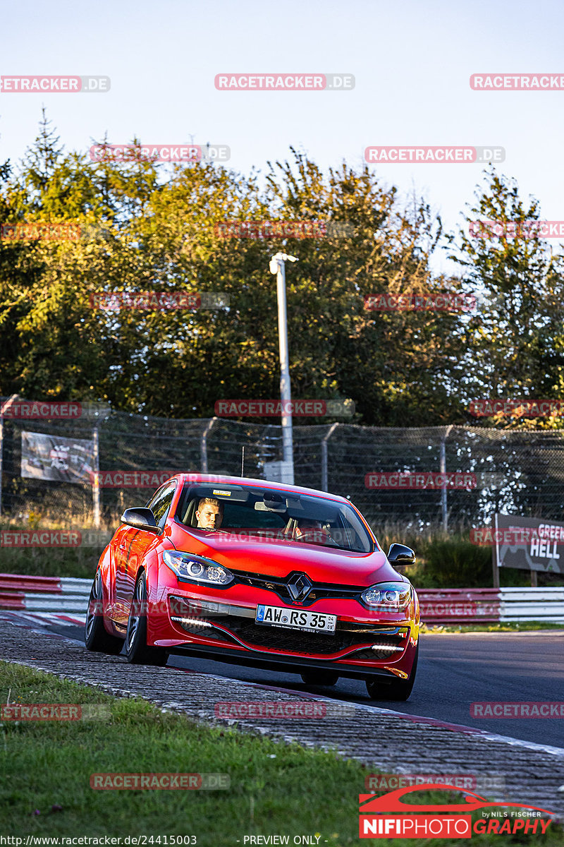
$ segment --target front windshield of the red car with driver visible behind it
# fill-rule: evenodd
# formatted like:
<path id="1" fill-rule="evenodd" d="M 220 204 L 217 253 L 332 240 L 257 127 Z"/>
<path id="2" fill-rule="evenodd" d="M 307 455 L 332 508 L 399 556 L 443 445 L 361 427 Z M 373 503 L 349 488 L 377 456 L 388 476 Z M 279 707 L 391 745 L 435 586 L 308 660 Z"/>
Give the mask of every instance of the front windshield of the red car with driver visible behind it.
<path id="1" fill-rule="evenodd" d="M 370 553 L 374 542 L 348 503 L 245 485 L 186 484 L 176 519 L 191 529 Z"/>

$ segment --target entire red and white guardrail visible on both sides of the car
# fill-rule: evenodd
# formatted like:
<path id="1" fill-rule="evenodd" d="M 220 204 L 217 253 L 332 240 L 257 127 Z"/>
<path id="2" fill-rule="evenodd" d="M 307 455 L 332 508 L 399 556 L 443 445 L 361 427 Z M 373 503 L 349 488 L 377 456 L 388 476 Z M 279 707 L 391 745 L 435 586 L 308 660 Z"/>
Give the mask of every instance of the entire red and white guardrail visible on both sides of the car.
<path id="1" fill-rule="evenodd" d="M 91 579 L 0 573 L 0 609 L 85 612 Z M 418 592 L 423 623 L 564 623 L 564 588 L 453 588 Z"/>

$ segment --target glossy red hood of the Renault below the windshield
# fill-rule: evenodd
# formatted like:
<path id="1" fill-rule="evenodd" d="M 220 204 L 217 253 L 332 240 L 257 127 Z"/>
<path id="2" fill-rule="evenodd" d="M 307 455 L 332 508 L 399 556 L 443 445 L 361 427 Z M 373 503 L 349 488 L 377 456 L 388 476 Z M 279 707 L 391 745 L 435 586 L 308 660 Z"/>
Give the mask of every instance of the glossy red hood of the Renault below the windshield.
<path id="1" fill-rule="evenodd" d="M 353 553 L 292 541 L 226 540 L 220 533 L 202 537 L 178 524 L 172 527 L 172 544 L 179 551 L 208 556 L 235 571 L 252 571 L 269 577 L 307 573 L 314 582 L 368 586 L 394 580 L 407 582 L 386 559 L 385 553 Z"/>

